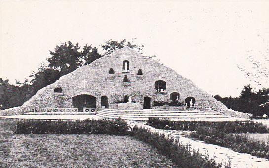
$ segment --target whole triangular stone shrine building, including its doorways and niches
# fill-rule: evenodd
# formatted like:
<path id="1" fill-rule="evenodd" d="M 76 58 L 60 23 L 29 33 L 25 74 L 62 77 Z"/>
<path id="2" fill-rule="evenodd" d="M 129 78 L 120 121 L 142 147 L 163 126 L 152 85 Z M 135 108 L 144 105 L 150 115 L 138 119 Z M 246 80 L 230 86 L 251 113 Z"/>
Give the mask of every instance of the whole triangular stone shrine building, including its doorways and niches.
<path id="1" fill-rule="evenodd" d="M 228 110 L 189 79 L 127 46 L 60 77 L 22 107 Z"/>

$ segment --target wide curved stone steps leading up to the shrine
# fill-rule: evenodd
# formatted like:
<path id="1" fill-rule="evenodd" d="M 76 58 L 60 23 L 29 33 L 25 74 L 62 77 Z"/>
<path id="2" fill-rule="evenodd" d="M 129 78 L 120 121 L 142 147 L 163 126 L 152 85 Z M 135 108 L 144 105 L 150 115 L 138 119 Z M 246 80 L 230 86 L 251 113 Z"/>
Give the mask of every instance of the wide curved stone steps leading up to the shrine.
<path id="1" fill-rule="evenodd" d="M 204 112 L 200 110 L 115 110 L 99 109 L 97 116 L 125 120 L 148 120 L 150 117 L 170 120 L 192 120 L 192 119 L 229 119 L 231 116 L 222 115 L 218 112 Z"/>

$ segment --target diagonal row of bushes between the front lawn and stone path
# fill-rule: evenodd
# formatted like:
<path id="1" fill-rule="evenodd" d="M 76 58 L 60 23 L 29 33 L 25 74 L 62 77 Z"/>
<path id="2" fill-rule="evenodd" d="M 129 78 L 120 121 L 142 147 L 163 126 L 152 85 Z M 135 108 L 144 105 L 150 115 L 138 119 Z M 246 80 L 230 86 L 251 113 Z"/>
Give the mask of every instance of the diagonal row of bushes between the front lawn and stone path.
<path id="1" fill-rule="evenodd" d="M 191 151 L 187 146 L 179 144 L 177 140 L 167 139 L 164 134 L 153 133 L 145 128 L 134 127 L 132 136 L 144 141 L 157 150 L 172 159 L 179 168 L 220 168 L 221 164 L 217 164 L 208 156 L 203 156 L 199 151 Z M 225 166 L 230 168 L 229 165 Z"/>

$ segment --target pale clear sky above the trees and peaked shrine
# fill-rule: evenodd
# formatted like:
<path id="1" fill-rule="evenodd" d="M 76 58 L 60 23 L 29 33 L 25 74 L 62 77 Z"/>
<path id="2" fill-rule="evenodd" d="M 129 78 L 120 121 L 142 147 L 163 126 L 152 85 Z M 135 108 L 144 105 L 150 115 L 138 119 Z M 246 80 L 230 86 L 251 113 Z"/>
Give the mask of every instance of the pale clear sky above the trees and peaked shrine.
<path id="1" fill-rule="evenodd" d="M 0 77 L 24 81 L 66 41 L 134 38 L 209 94 L 239 96 L 255 83 L 238 66 L 269 66 L 269 1 L 0 1 Z"/>

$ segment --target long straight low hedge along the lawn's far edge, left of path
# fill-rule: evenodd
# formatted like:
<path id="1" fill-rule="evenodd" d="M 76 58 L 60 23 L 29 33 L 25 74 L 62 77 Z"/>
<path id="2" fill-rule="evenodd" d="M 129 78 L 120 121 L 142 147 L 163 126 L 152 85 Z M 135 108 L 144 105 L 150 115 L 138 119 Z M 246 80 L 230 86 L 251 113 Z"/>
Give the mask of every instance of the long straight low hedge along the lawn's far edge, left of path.
<path id="1" fill-rule="evenodd" d="M 17 121 L 17 134 L 129 134 L 129 126 L 121 119 L 115 120 L 22 120 Z"/>

